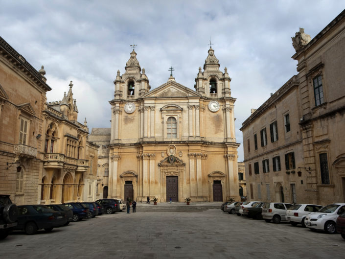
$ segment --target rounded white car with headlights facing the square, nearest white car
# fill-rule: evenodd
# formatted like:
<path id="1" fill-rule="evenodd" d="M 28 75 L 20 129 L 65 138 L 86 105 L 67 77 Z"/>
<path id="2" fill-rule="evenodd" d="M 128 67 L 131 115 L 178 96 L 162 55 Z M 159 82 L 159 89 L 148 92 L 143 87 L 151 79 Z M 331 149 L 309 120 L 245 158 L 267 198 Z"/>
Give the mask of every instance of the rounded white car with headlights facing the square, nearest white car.
<path id="1" fill-rule="evenodd" d="M 328 234 L 336 233 L 337 217 L 345 212 L 345 203 L 328 204 L 318 212 L 305 217 L 304 224 L 310 230 L 324 230 Z"/>

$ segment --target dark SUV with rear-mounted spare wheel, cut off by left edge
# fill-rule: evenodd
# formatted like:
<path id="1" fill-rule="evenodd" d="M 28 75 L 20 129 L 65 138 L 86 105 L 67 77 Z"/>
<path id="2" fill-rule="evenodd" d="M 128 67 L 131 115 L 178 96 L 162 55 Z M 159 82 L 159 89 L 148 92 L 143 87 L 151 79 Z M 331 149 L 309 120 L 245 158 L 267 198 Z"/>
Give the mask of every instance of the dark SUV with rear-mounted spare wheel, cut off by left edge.
<path id="1" fill-rule="evenodd" d="M 0 194 L 0 239 L 17 226 L 18 208 L 12 203 L 10 195 Z"/>

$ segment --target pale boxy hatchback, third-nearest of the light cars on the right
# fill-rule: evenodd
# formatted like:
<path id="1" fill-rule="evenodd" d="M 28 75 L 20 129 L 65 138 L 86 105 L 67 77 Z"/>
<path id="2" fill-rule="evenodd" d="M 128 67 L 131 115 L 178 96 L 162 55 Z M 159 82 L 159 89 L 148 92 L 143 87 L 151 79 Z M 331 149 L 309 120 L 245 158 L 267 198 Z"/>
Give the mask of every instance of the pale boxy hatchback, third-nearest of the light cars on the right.
<path id="1" fill-rule="evenodd" d="M 287 221 L 286 210 L 292 206 L 291 203 L 282 202 L 266 202 L 262 207 L 262 218 L 266 222 L 271 220 L 274 223 L 280 223 L 280 221 Z"/>

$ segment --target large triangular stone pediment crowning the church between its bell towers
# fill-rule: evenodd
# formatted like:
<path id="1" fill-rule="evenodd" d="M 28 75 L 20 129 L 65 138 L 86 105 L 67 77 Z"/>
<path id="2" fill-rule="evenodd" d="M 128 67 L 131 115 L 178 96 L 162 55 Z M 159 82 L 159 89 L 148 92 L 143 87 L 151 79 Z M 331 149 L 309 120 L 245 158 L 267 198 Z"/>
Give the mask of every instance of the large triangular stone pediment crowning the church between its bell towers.
<path id="1" fill-rule="evenodd" d="M 175 81 L 168 81 L 165 84 L 155 88 L 151 92 L 145 94 L 143 97 L 184 97 L 184 96 L 201 96 L 195 91 L 176 83 Z"/>

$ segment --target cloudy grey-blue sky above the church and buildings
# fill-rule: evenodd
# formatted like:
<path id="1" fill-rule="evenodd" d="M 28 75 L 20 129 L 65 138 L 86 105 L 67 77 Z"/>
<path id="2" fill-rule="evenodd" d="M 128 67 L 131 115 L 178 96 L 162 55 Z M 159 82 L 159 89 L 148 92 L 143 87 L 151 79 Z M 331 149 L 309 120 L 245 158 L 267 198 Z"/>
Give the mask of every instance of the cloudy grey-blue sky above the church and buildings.
<path id="1" fill-rule="evenodd" d="M 211 39 L 232 78 L 242 161 L 242 122 L 297 74 L 291 37 L 303 27 L 314 38 L 344 8 L 344 0 L 0 0 L 0 36 L 34 68 L 45 66 L 48 101 L 73 81 L 78 120 L 86 117 L 90 132 L 110 127 L 113 81 L 133 42 L 151 90 L 170 66 L 194 90 Z"/>

